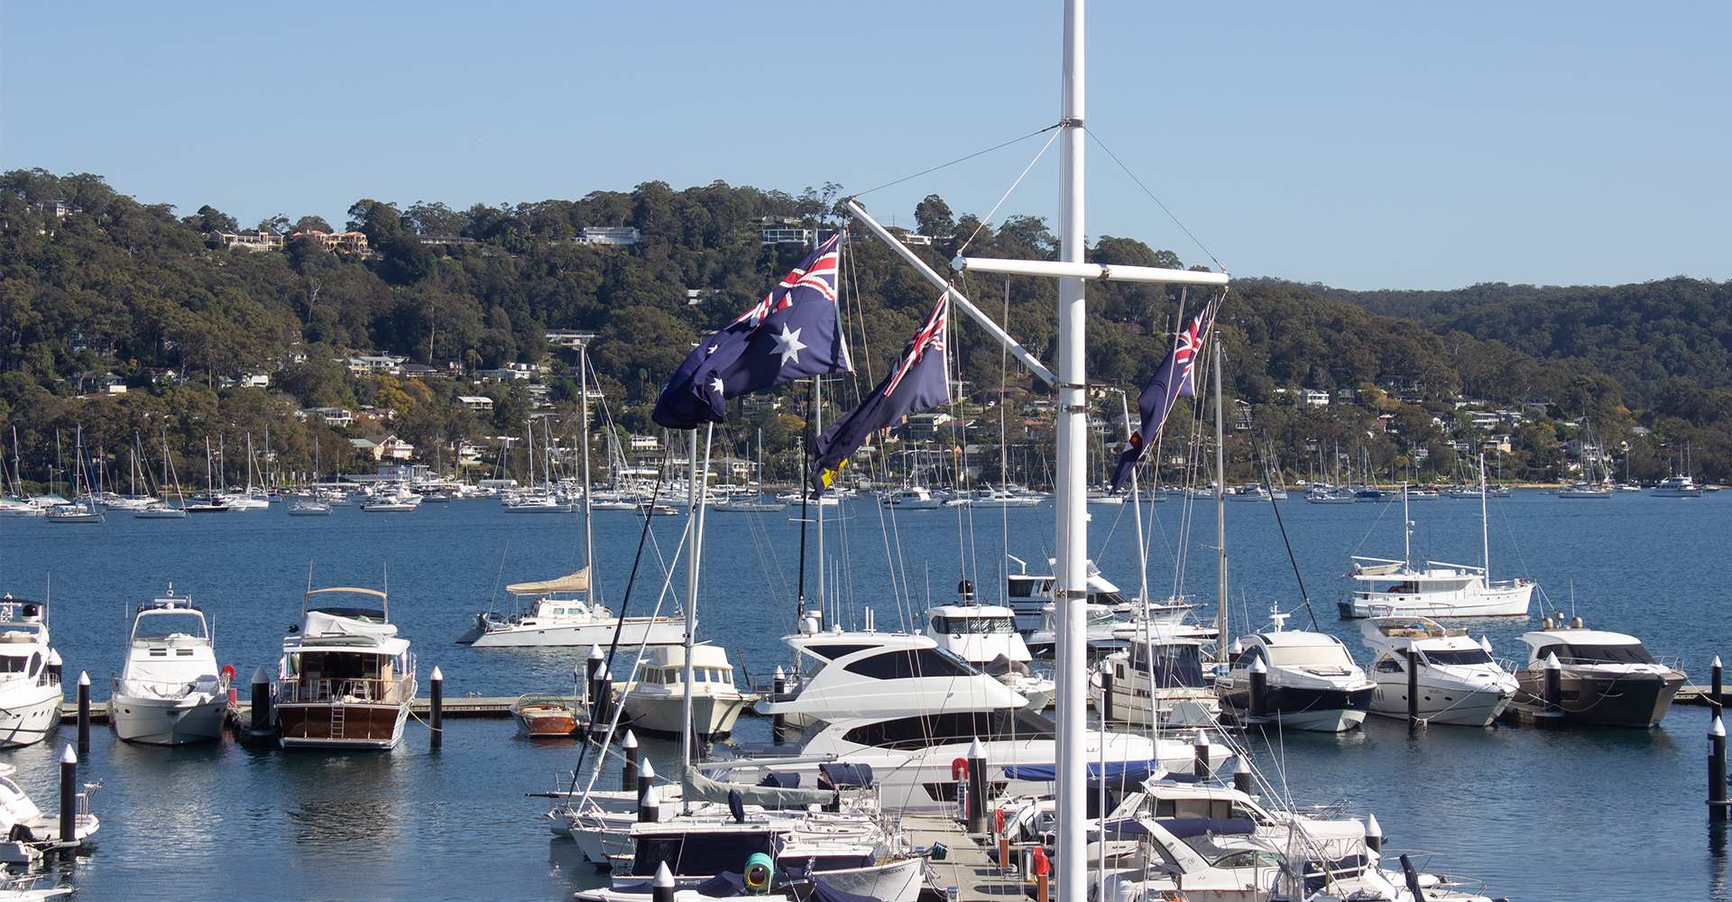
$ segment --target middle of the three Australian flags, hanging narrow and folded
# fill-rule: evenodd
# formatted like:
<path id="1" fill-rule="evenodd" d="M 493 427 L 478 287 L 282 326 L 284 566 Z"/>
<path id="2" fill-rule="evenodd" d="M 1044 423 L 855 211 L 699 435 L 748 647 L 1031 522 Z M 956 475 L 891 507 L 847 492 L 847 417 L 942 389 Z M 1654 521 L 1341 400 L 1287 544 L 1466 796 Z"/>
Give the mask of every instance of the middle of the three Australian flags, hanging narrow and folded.
<path id="1" fill-rule="evenodd" d="M 939 305 L 920 327 L 920 332 L 902 348 L 890 374 L 878 388 L 818 436 L 812 459 L 812 492 L 823 493 L 842 471 L 849 455 L 866 443 L 866 436 L 885 429 L 895 421 L 930 410 L 951 400 L 951 383 L 946 376 L 944 325 L 949 296 L 939 296 Z"/>

